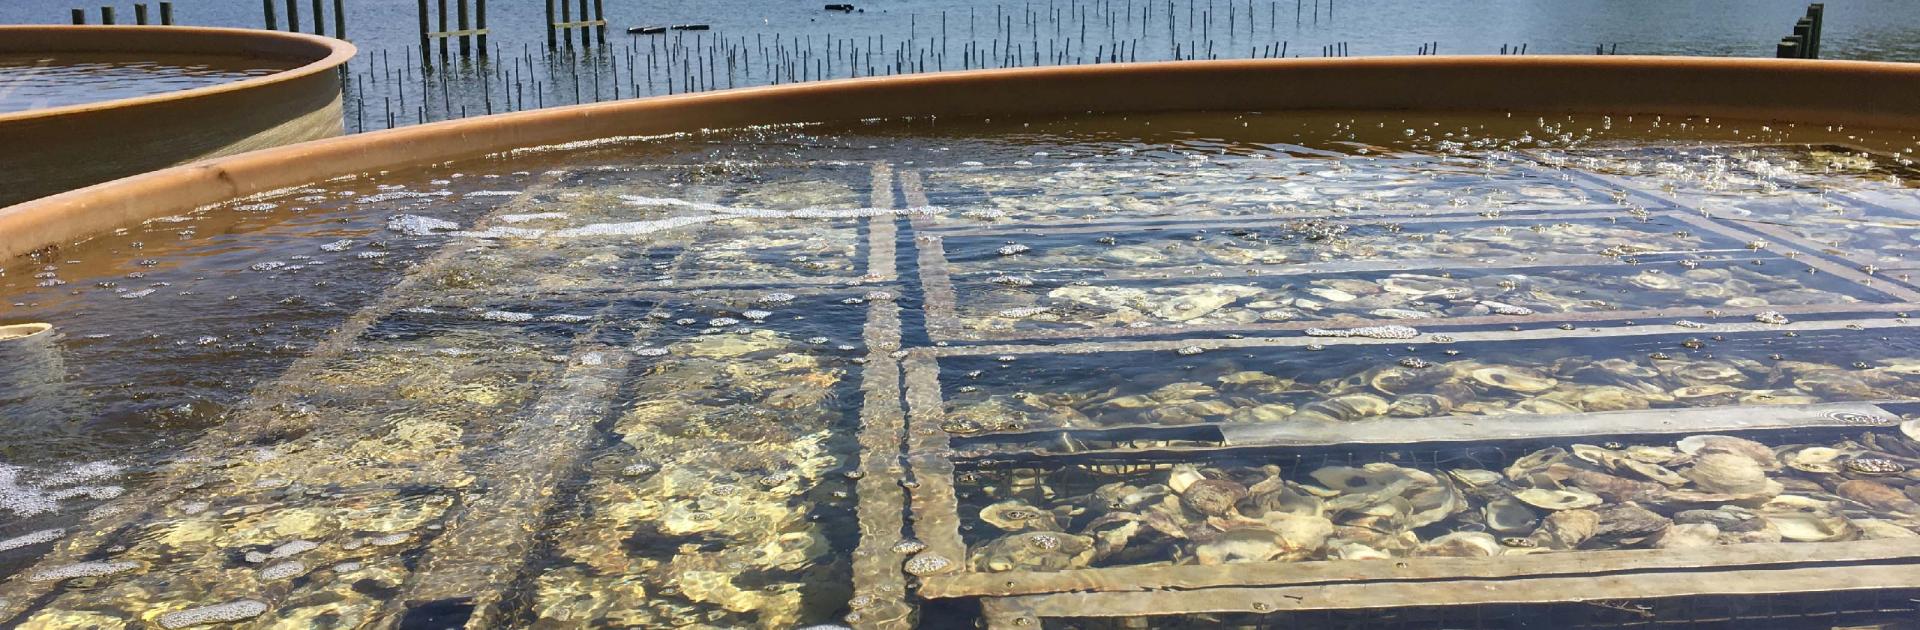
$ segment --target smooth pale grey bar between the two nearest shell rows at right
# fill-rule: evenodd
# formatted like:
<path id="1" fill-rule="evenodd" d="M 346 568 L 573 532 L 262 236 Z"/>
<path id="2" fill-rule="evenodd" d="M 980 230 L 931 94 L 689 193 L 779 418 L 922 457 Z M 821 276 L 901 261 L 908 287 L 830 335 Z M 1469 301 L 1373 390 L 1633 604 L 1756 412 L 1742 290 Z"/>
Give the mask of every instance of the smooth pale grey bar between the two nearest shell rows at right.
<path id="1" fill-rule="evenodd" d="M 1300 446 L 1390 446 L 1390 444 L 1448 444 L 1448 442 L 1501 442 L 1501 440 L 1555 440 L 1584 436 L 1653 436 L 1680 432 L 1745 432 L 1745 430 L 1788 430 L 1788 428 L 1862 428 L 1893 426 L 1899 415 L 1880 407 L 1878 401 L 1843 403 L 1805 403 L 1805 405 L 1724 405 L 1724 407 L 1672 407 L 1672 409 L 1628 409 L 1628 411 L 1586 411 L 1551 415 L 1440 415 L 1421 419 L 1367 419 L 1357 423 L 1215 423 L 1204 432 L 1213 432 L 1219 446 L 1160 446 L 1160 448 L 1116 448 L 1081 451 L 1008 451 L 1020 461 L 1048 459 L 1089 459 L 1102 455 L 1231 455 L 1238 451 L 1267 451 L 1273 448 Z M 1194 436 L 1192 424 L 1114 424 L 1100 428 L 1037 428 L 1025 432 L 973 434 L 989 444 L 1033 444 L 1058 440 L 1060 436 L 1079 440 L 1169 440 Z M 1204 434 L 1202 432 L 1202 434 Z M 1139 438 L 1127 436 L 1137 434 Z M 1156 436 L 1158 434 L 1158 436 Z M 973 438 L 970 436 L 970 438 Z M 993 451 L 991 446 L 981 446 Z M 972 451 L 964 448 L 962 451 Z M 972 453 L 970 453 L 972 457 Z M 981 457 L 1000 457 L 998 453 Z"/>

